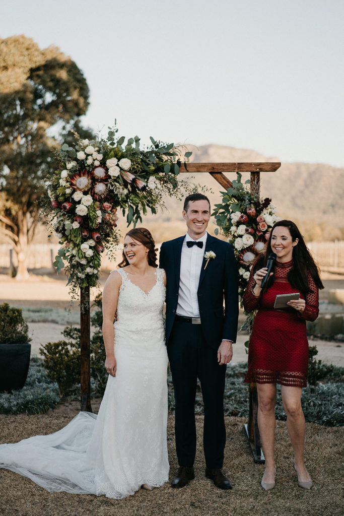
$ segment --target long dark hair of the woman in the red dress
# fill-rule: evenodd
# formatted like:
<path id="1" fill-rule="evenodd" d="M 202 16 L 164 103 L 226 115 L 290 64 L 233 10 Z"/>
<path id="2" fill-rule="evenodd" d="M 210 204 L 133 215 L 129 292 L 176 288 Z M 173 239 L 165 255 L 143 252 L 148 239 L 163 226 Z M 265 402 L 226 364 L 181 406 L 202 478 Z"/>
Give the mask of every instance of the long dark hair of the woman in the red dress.
<path id="1" fill-rule="evenodd" d="M 254 271 L 260 269 L 261 267 L 266 267 L 268 262 L 268 257 L 272 252 L 271 249 L 271 237 L 273 230 L 279 226 L 283 226 L 284 228 L 288 228 L 292 241 L 294 242 L 298 239 L 298 244 L 292 248 L 292 259 L 293 266 L 288 272 L 288 281 L 291 286 L 297 288 L 303 295 L 312 293 L 312 289 L 309 288 L 308 285 L 308 272 L 310 276 L 312 276 L 315 284 L 319 289 L 324 288 L 322 281 L 320 279 L 319 269 L 316 265 L 312 254 L 310 254 L 309 249 L 307 248 L 305 241 L 299 231 L 297 225 L 291 220 L 279 220 L 276 222 L 271 230 L 270 238 L 268 240 L 268 245 L 266 248 L 266 253 L 264 257 L 261 257 L 254 264 Z M 275 275 L 272 275 L 269 280 L 266 282 L 266 286 L 264 287 L 264 291 L 273 285 L 275 279 Z"/>

